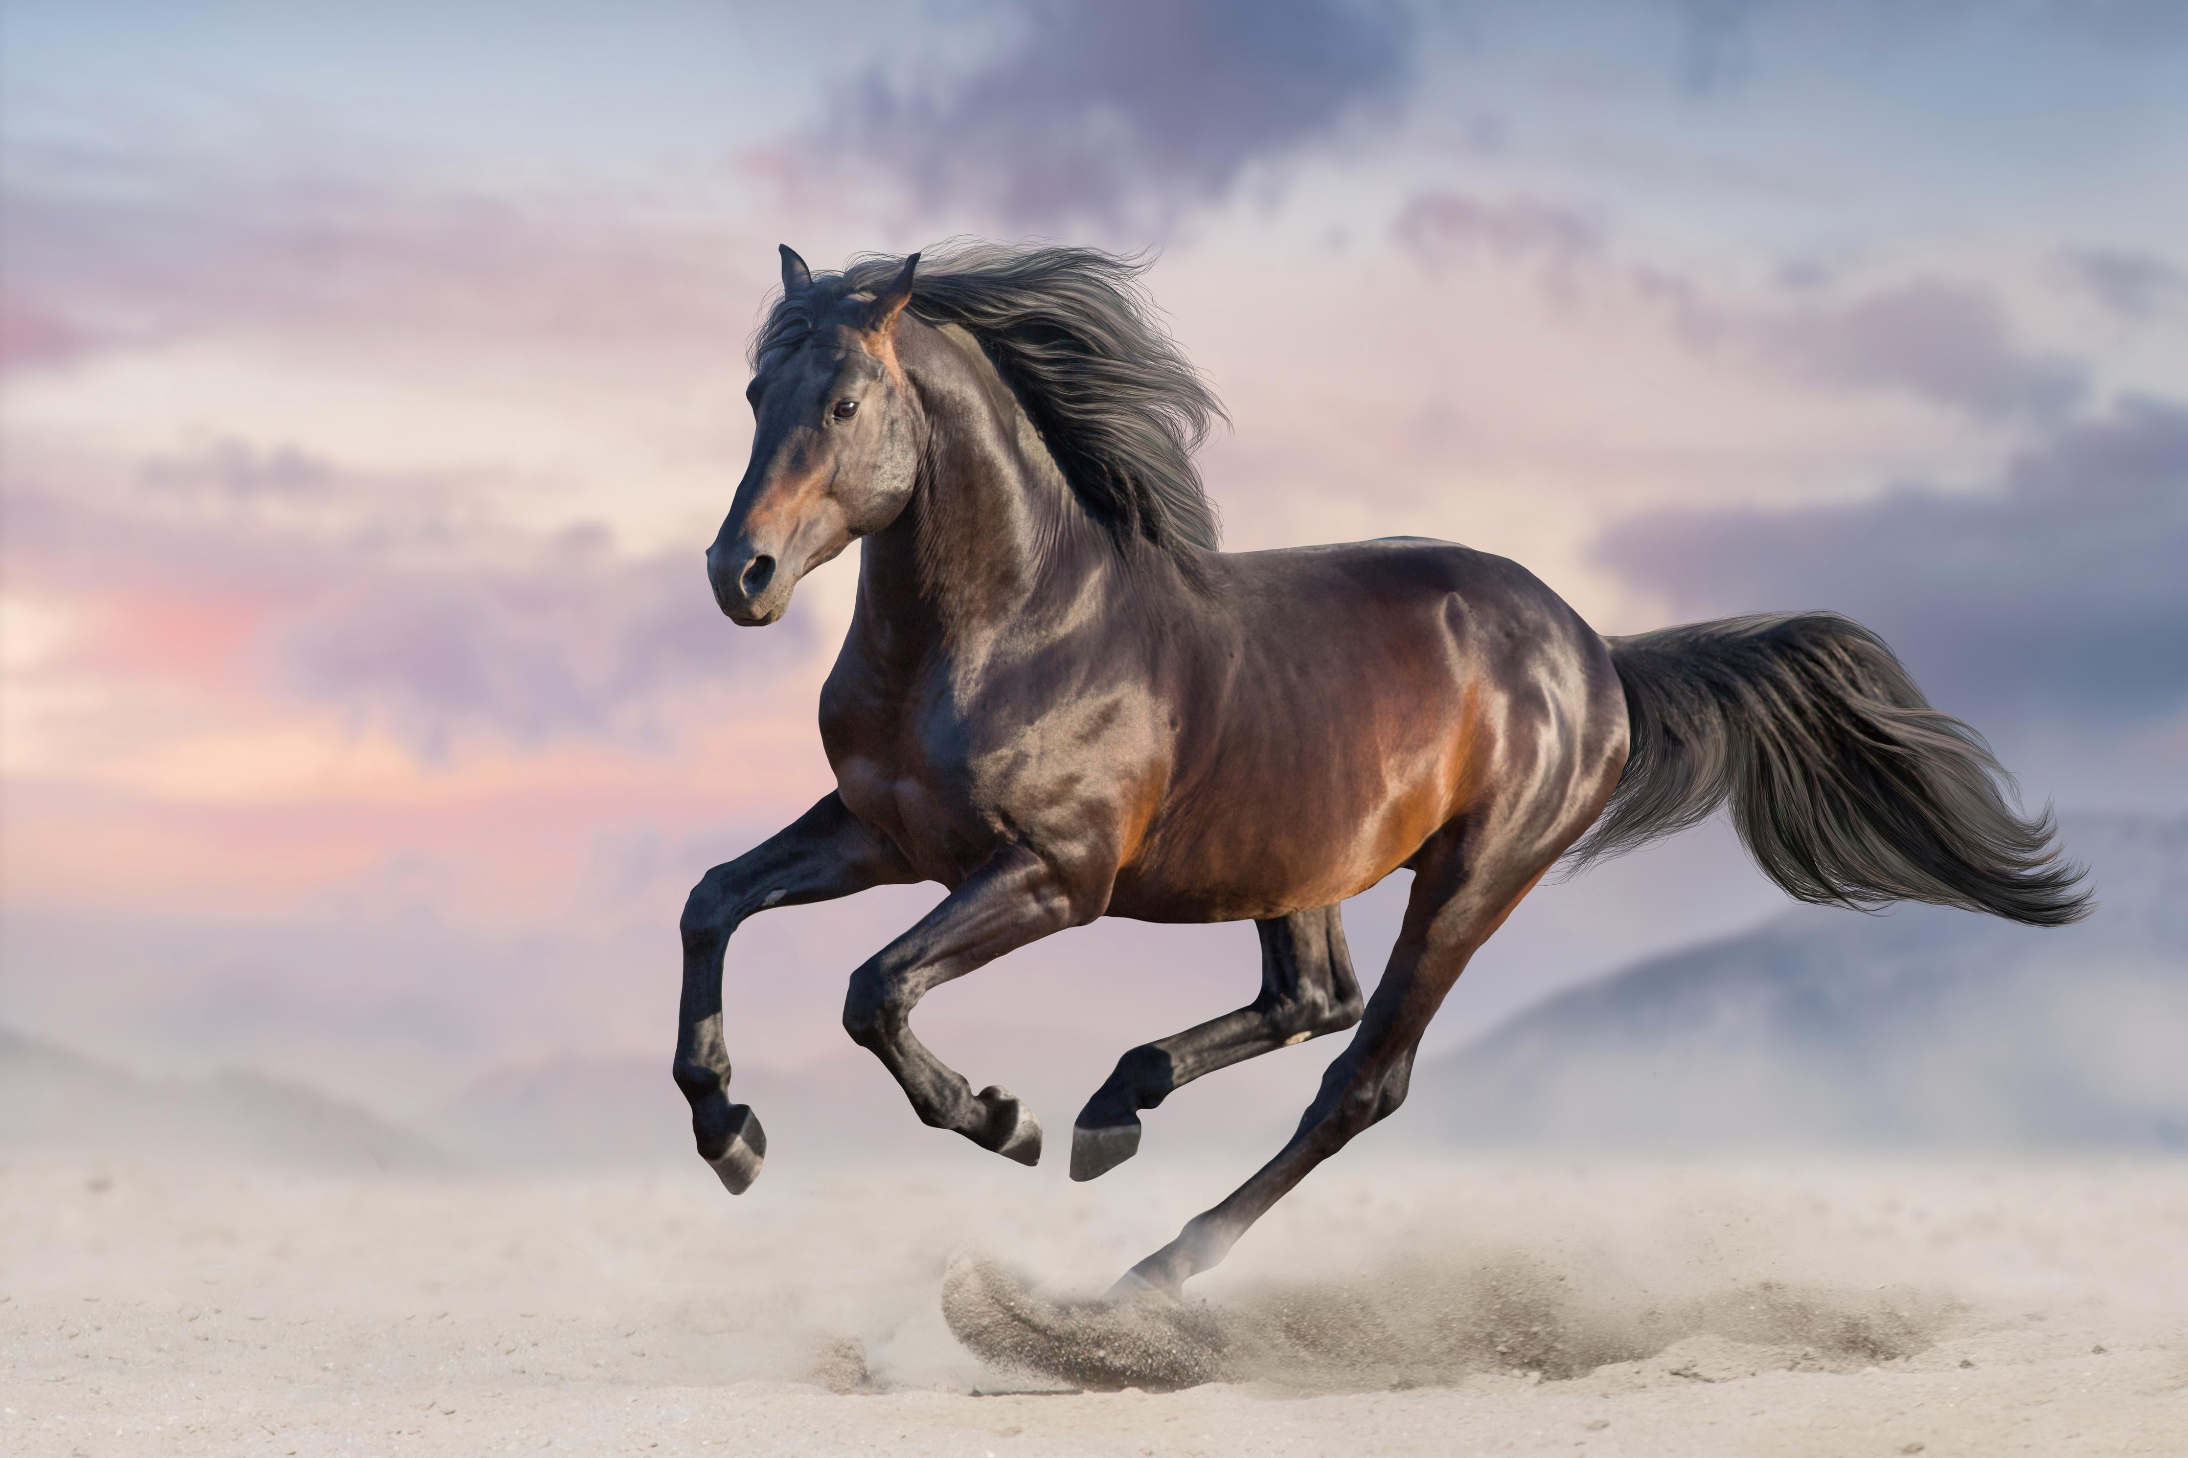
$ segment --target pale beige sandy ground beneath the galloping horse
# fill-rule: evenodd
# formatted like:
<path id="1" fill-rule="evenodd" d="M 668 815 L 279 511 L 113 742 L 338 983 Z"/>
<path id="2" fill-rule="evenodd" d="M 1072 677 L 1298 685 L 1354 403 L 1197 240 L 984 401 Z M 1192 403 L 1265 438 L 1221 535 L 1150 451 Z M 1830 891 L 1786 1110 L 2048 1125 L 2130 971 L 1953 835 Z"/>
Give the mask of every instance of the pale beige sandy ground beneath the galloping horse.
<path id="1" fill-rule="evenodd" d="M 1195 1283 L 1214 1381 L 952 1338 L 963 1253 L 1092 1294 L 1219 1185 L 1133 1178 L 11 1161 L 0 1451 L 2188 1454 L 2188 1165 L 1348 1159 Z"/>

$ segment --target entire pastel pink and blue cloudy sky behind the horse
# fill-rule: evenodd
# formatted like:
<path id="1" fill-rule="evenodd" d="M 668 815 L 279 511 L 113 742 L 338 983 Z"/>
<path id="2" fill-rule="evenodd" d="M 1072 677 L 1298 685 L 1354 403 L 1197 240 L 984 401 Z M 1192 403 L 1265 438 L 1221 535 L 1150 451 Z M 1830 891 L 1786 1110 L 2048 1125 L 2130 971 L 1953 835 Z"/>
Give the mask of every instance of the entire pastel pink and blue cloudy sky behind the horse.
<path id="1" fill-rule="evenodd" d="M 849 564 L 764 632 L 700 564 L 777 243 L 1149 251 L 1227 546 L 1836 608 L 2030 807 L 2184 811 L 2184 179 L 2155 0 L 7 0 L 0 1023 L 394 1115 L 665 1069 L 685 890 L 831 785 Z M 936 896 L 748 922 L 733 1058 L 836 1067 Z M 1545 887 L 1429 1047 L 1781 907 L 1722 826 Z M 1098 922 L 919 1025 L 1083 1097 L 1254 986 Z"/>

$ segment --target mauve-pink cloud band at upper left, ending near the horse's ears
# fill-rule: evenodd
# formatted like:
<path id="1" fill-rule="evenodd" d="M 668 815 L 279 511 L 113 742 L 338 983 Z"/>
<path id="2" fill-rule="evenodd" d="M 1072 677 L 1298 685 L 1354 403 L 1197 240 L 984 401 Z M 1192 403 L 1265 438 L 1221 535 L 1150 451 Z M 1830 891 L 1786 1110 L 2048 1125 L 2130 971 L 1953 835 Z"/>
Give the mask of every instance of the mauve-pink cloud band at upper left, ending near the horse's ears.
<path id="1" fill-rule="evenodd" d="M 147 136 L 9 151 L 11 369 L 208 334 L 720 352 L 759 282 L 650 199 L 438 186 L 324 138 L 302 153 Z"/>

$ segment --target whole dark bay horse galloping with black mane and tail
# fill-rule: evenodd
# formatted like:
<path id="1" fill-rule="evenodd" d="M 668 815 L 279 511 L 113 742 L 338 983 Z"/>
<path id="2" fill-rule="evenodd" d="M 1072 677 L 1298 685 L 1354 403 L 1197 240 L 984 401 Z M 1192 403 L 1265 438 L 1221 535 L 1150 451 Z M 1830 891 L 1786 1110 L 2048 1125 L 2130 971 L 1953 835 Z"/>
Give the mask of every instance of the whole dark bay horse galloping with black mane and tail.
<path id="1" fill-rule="evenodd" d="M 685 903 L 674 1078 L 731 1194 L 766 1134 L 729 1100 L 722 966 L 744 918 L 873 885 L 947 896 L 851 973 L 842 1025 L 921 1121 L 1033 1165 L 1041 1126 L 910 1030 L 919 999 L 1098 916 L 1254 920 L 1247 1008 L 1125 1054 L 1072 1130 L 1090 1180 L 1186 1082 L 1357 1030 L 1284 1148 L 1133 1266 L 1177 1296 L 1315 1165 L 1396 1110 L 1468 957 L 1560 859 L 1720 804 L 1801 901 L 2087 909 L 2050 811 L 1829 612 L 1593 632 L 1532 573 L 1392 538 L 1223 553 L 1192 461 L 1221 404 L 1157 324 L 1144 260 L 956 243 L 814 275 L 781 249 L 753 341 L 753 452 L 707 577 L 781 621 L 853 542 L 821 691 L 836 789 Z M 1374 995 L 1339 905 L 1413 872 Z"/>

